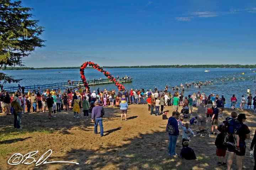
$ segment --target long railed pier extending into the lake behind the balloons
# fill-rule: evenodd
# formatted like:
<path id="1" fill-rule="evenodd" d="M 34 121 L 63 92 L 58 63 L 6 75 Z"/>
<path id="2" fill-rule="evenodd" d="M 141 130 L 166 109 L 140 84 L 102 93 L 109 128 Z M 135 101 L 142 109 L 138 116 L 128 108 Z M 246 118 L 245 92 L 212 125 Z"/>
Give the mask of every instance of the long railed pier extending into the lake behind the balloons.
<path id="1" fill-rule="evenodd" d="M 131 83 L 132 78 L 128 79 L 119 79 L 119 83 Z M 87 83 L 89 86 L 96 86 L 96 85 L 102 85 L 102 84 L 113 84 L 112 81 L 109 79 L 101 79 L 101 80 L 88 80 Z M 73 81 L 68 83 L 68 82 L 61 82 L 61 83 L 52 83 L 52 84 L 34 84 L 34 86 L 24 86 L 25 87 L 25 92 L 28 92 L 28 90 L 36 90 L 38 87 L 40 87 L 41 90 L 46 90 L 46 89 L 53 89 L 53 88 L 62 88 L 62 87 L 82 87 L 84 84 L 82 81 Z M 4 88 L 5 91 L 8 92 L 16 92 L 18 90 L 18 87 L 9 87 L 9 88 Z"/>

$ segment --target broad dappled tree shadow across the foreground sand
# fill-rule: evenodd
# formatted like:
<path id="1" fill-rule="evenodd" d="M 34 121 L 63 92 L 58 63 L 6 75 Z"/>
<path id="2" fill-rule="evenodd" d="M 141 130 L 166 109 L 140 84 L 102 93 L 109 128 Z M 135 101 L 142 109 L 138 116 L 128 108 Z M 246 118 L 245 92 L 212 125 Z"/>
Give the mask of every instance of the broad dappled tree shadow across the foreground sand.
<path id="1" fill-rule="evenodd" d="M 203 137 L 201 137 L 203 141 Z M 167 152 L 168 135 L 166 132 L 153 132 L 140 134 L 129 139 L 128 144 L 99 146 L 94 149 L 72 149 L 65 155 L 54 157 L 49 160 L 75 161 L 75 164 L 60 164 L 60 169 L 178 169 L 178 170 L 224 170 L 220 167 L 215 156 L 214 144 L 205 143 L 202 145 L 193 143 L 191 147 L 195 150 L 196 160 L 182 160 L 170 157 Z M 181 137 L 178 138 L 176 153 L 179 154 L 182 148 Z M 207 152 L 205 150 L 208 150 Z M 210 152 L 209 152 L 210 151 Z M 245 163 L 246 164 L 246 163 Z M 49 165 L 44 165 L 49 166 Z M 247 164 L 247 168 L 253 165 Z M 48 167 L 50 168 L 50 166 Z M 233 168 L 235 168 L 233 166 Z"/>

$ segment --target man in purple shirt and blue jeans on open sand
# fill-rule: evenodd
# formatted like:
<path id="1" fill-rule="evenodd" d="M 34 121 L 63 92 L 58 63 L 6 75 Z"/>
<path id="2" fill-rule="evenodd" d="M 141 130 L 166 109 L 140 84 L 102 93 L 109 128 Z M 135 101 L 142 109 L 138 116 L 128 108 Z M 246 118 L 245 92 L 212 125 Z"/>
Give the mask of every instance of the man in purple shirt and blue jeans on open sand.
<path id="1" fill-rule="evenodd" d="M 102 106 L 99 105 L 98 100 L 95 101 L 95 107 L 92 108 L 92 122 L 94 123 L 94 133 L 98 133 L 98 124 L 100 124 L 100 134 L 103 136 L 103 125 L 102 117 L 105 114 L 105 111 Z"/>

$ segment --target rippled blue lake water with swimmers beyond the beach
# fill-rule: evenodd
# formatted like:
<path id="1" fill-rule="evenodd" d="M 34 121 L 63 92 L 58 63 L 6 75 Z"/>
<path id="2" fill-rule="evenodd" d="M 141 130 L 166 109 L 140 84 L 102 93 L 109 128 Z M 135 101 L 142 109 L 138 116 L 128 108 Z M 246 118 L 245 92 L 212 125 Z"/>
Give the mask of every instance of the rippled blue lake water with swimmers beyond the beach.
<path id="1" fill-rule="evenodd" d="M 251 89 L 252 95 L 255 94 L 256 88 L 256 73 L 255 69 L 248 68 L 208 68 L 210 72 L 204 72 L 205 68 L 107 68 L 114 77 L 130 76 L 133 78 L 132 83 L 124 83 L 124 87 L 128 90 L 154 89 L 164 90 L 165 85 L 169 86 L 169 90 L 173 94 L 171 87 L 185 84 L 186 82 L 205 82 L 206 80 L 213 80 L 213 84 L 196 88 L 191 85 L 190 88 L 185 88 L 185 96 L 193 92 L 204 92 L 206 95 L 210 93 L 224 95 L 226 103 L 229 104 L 231 95 L 235 94 L 240 104 L 241 96 L 247 96 L 247 88 Z M 60 73 L 57 73 L 59 71 Z M 80 80 L 79 69 L 53 69 L 53 70 L 10 70 L 2 71 L 15 78 L 21 78 L 21 86 L 29 86 L 34 84 L 49 84 Z M 242 72 L 245 74 L 242 75 Z M 101 72 L 95 69 L 85 69 L 86 79 L 105 78 Z M 217 82 L 216 82 L 217 81 Z M 17 84 L 4 84 L 4 87 L 17 87 Z M 104 88 L 116 89 L 114 84 L 105 84 L 99 86 L 91 86 L 91 90 L 97 88 L 103 90 Z M 246 97 L 247 98 L 247 97 Z"/>

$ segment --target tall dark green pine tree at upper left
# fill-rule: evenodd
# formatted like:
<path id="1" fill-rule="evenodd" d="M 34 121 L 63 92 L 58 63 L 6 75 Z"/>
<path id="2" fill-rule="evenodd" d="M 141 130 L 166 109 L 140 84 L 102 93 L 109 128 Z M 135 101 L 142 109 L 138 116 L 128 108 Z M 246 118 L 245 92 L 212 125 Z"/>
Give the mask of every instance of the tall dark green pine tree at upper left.
<path id="1" fill-rule="evenodd" d="M 39 37 L 44 27 L 38 26 L 38 20 L 32 20 L 31 10 L 22 6 L 21 1 L 0 0 L 0 68 L 24 66 L 23 57 L 44 46 L 45 41 Z M 0 82 L 20 80 L 0 72 Z"/>

